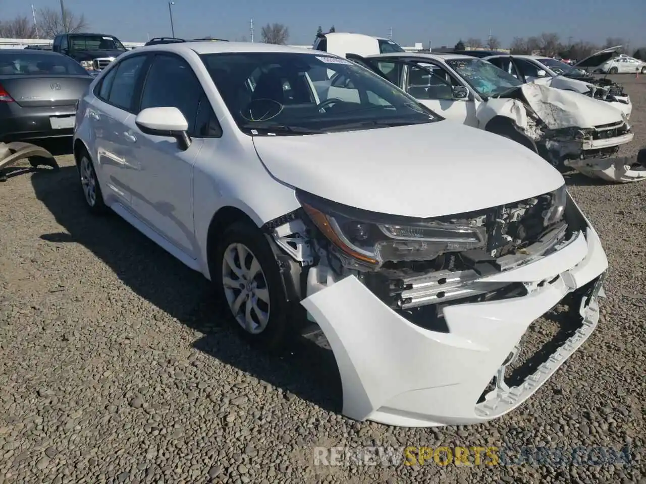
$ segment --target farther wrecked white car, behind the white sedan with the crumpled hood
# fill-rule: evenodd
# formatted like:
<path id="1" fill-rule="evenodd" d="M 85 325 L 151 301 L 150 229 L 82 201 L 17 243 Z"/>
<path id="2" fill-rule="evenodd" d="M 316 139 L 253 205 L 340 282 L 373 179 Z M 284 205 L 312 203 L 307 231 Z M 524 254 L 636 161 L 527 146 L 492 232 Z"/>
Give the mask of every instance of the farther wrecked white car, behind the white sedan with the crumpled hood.
<path id="1" fill-rule="evenodd" d="M 603 52 L 597 53 L 596 61 L 590 62 L 602 61 L 605 58 Z M 623 90 L 623 86 L 605 77 L 590 76 L 577 66 L 573 67 L 563 61 L 540 55 L 493 55 L 484 59 L 524 83 L 579 92 L 594 99 L 607 101 L 610 106 L 623 112 L 628 119 L 632 114 L 630 96 Z M 589 59 L 595 57 L 590 56 L 584 59 L 584 62 Z"/>

